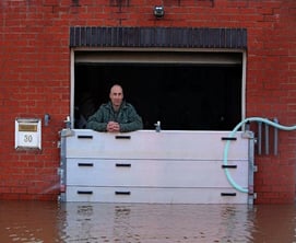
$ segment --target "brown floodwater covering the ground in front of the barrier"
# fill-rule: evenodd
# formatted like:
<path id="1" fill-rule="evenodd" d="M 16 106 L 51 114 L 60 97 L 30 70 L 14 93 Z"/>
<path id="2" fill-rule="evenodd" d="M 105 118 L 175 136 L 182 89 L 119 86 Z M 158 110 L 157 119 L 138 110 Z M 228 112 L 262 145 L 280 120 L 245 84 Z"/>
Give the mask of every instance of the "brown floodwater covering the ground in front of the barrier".
<path id="1" fill-rule="evenodd" d="M 296 243 L 296 206 L 0 201 L 0 242 Z"/>

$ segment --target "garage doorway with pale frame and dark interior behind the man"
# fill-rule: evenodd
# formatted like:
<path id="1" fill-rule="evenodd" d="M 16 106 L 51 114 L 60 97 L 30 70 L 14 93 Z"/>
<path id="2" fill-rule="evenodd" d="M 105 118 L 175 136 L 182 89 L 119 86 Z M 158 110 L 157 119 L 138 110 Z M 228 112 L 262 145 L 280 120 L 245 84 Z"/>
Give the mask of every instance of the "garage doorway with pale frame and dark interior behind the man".
<path id="1" fill-rule="evenodd" d="M 119 83 L 143 118 L 168 130 L 230 130 L 245 114 L 245 53 L 194 49 L 72 51 L 74 128 L 108 101 Z"/>

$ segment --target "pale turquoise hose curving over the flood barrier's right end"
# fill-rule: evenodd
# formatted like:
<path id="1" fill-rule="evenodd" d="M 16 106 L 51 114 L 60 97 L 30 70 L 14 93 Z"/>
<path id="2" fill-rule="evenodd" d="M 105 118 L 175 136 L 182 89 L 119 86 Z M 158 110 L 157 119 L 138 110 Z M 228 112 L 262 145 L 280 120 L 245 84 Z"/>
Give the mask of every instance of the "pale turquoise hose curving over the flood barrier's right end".
<path id="1" fill-rule="evenodd" d="M 250 123 L 250 121 L 261 121 L 261 123 L 264 123 L 264 124 L 268 124 L 270 126 L 273 126 L 277 129 L 281 129 L 281 130 L 286 130 L 286 131 L 291 131 L 291 130 L 296 130 L 296 125 L 295 126 L 283 126 L 283 125 L 280 125 L 280 124 L 276 124 L 274 121 L 271 121 L 267 118 L 262 118 L 262 117 L 249 117 L 249 118 L 246 118 L 244 119 L 242 121 L 240 121 L 234 129 L 233 131 L 229 134 L 229 138 L 233 138 L 235 136 L 235 134 L 237 132 L 237 130 L 246 123 Z M 223 157 L 223 164 L 224 165 L 227 165 L 227 160 L 228 160 L 228 150 L 229 150 L 229 144 L 230 144 L 230 140 L 227 140 L 226 141 L 226 144 L 225 144 L 225 148 L 224 148 L 224 157 Z M 248 193 L 248 188 L 242 188 L 241 186 L 239 186 L 232 177 L 227 167 L 225 167 L 225 174 L 226 174 L 226 177 L 228 180 L 228 182 L 230 183 L 230 185 L 237 189 L 238 192 L 241 192 L 241 193 Z"/>

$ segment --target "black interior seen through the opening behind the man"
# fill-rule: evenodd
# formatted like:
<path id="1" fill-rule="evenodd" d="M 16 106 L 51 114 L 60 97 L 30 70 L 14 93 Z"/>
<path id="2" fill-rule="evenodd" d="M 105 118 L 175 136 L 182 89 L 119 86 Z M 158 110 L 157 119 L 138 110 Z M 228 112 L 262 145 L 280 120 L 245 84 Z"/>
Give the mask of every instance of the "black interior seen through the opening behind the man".
<path id="1" fill-rule="evenodd" d="M 202 63 L 94 63 L 74 67 L 74 127 L 108 101 L 119 83 L 142 116 L 168 130 L 230 130 L 241 120 L 242 67 Z"/>

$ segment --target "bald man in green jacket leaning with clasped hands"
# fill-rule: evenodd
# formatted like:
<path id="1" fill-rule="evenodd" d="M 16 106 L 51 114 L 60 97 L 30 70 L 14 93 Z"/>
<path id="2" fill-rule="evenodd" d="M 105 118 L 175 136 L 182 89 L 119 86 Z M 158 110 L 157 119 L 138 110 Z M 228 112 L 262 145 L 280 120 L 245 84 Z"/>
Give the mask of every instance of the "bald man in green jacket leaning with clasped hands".
<path id="1" fill-rule="evenodd" d="M 130 103 L 123 101 L 123 90 L 119 84 L 111 86 L 109 99 L 108 103 L 102 104 L 98 111 L 90 116 L 86 128 L 108 132 L 143 129 L 142 118 Z"/>

